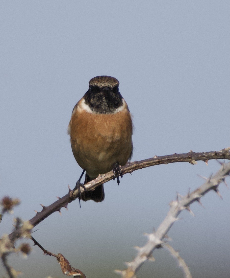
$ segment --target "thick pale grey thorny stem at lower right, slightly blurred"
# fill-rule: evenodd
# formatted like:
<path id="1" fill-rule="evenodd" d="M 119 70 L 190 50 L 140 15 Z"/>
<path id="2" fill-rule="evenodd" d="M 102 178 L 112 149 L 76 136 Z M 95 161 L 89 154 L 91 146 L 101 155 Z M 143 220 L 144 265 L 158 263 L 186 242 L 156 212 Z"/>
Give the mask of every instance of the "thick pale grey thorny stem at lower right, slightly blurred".
<path id="1" fill-rule="evenodd" d="M 127 269 L 116 270 L 117 273 L 119 273 L 123 278 L 136 277 L 135 274 L 140 269 L 142 264 L 152 258 L 152 252 L 156 248 L 164 245 L 164 239 L 167 240 L 167 233 L 169 229 L 175 221 L 179 220 L 178 215 L 182 212 L 182 210 L 186 209 L 192 214 L 189 206 L 195 201 L 201 204 L 201 197 L 210 190 L 214 190 L 221 197 L 218 187 L 221 182 L 224 182 L 226 176 L 230 174 L 230 162 L 226 164 L 221 163 L 221 165 L 221 169 L 214 176 L 211 175 L 207 178 L 207 181 L 199 188 L 191 193 L 188 192 L 186 196 L 177 195 L 176 200 L 170 203 L 169 212 L 158 229 L 151 234 L 146 234 L 148 238 L 147 244 L 143 247 L 135 247 L 138 250 L 138 254 L 135 259 L 132 260 L 132 262 L 126 263 Z"/>

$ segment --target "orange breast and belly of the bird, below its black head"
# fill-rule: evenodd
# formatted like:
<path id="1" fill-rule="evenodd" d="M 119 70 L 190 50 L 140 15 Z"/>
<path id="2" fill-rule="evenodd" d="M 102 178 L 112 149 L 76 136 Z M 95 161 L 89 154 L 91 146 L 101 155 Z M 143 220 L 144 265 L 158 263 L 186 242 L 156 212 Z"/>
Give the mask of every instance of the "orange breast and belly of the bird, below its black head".
<path id="1" fill-rule="evenodd" d="M 72 114 L 69 133 L 73 155 L 90 178 L 112 170 L 114 163 L 125 165 L 132 155 L 132 120 L 125 103 L 115 114 L 89 113 L 81 108 Z"/>

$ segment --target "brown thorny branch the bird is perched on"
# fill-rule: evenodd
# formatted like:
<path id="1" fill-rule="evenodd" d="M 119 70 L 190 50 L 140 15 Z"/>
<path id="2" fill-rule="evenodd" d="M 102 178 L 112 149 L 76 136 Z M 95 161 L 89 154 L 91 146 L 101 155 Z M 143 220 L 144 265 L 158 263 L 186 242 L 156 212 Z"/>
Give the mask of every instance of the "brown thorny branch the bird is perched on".
<path id="1" fill-rule="evenodd" d="M 230 147 L 222 149 L 221 151 L 213 151 L 213 152 L 202 152 L 202 153 L 196 153 L 193 151 L 190 151 L 188 153 L 174 153 L 173 155 L 165 155 L 160 157 L 152 157 L 145 160 L 140 161 L 134 161 L 134 162 L 128 162 L 125 166 L 121 167 L 122 174 L 132 173 L 135 170 L 160 165 L 160 164 L 168 164 L 168 163 L 175 163 L 175 162 L 189 162 L 192 165 L 196 164 L 196 161 L 204 161 L 206 164 L 208 160 L 211 159 L 229 159 L 230 160 Z M 91 182 L 88 182 L 85 187 L 87 190 L 94 190 L 95 187 L 98 185 L 108 182 L 109 180 L 113 179 L 113 171 L 110 171 L 106 174 L 99 175 L 95 180 L 92 180 Z M 81 188 L 81 192 L 83 192 L 83 188 Z M 36 215 L 30 219 L 30 223 L 35 227 L 38 225 L 41 221 L 43 221 L 45 218 L 47 218 L 52 213 L 61 210 L 62 207 L 65 207 L 67 209 L 68 203 L 71 203 L 73 200 L 78 198 L 78 190 L 70 190 L 69 192 L 63 196 L 62 198 L 58 198 L 58 200 L 54 203 L 52 203 L 49 206 L 42 206 L 41 212 L 36 212 Z M 18 231 L 14 231 L 9 235 L 9 238 L 12 239 L 12 237 L 16 236 L 16 233 Z"/>

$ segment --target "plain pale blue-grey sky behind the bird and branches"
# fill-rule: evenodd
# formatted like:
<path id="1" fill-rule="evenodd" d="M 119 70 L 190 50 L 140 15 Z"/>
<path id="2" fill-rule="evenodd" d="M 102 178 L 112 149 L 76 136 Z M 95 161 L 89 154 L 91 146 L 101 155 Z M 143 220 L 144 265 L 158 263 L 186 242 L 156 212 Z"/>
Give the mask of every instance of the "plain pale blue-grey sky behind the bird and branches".
<path id="1" fill-rule="evenodd" d="M 9 1 L 0 3 L 0 197 L 21 199 L 6 215 L 27 220 L 74 187 L 81 168 L 67 126 L 97 75 L 114 76 L 133 114 L 132 160 L 229 146 L 229 1 Z M 105 184 L 105 201 L 69 205 L 33 236 L 90 277 L 119 277 L 157 228 L 176 193 L 203 183 L 219 165 L 175 163 Z M 229 184 L 229 179 L 227 180 Z M 193 204 L 169 232 L 194 278 L 229 277 L 229 189 Z M 183 277 L 165 250 L 137 277 Z M 10 263 L 25 278 L 64 277 L 55 258 L 33 247 Z M 0 269 L 0 276 L 4 270 Z"/>

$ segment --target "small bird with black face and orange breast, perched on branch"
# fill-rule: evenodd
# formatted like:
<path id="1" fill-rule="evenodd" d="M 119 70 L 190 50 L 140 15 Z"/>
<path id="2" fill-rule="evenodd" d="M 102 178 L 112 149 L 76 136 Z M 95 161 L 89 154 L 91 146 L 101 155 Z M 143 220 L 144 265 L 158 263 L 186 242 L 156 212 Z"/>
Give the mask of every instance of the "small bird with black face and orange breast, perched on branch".
<path id="1" fill-rule="evenodd" d="M 68 134 L 73 155 L 83 169 L 75 187 L 79 202 L 80 199 L 102 202 L 105 198 L 103 184 L 90 191 L 84 185 L 111 170 L 119 185 L 119 176 L 122 177 L 119 165 L 125 165 L 133 153 L 132 115 L 119 92 L 116 78 L 102 75 L 90 79 L 88 91 L 73 108 Z M 85 189 L 83 193 L 80 193 L 80 186 Z"/>

